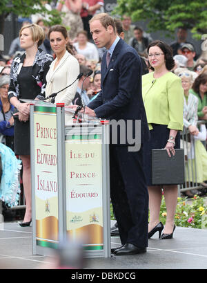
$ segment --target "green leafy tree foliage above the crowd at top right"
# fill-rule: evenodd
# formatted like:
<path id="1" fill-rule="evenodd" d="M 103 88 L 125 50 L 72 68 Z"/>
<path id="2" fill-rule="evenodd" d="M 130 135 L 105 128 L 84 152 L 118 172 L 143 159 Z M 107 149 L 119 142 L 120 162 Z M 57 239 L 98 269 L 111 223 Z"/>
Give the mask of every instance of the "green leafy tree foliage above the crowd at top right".
<path id="1" fill-rule="evenodd" d="M 184 26 L 196 39 L 207 33 L 206 0 L 117 0 L 117 4 L 114 14 L 147 20 L 150 32 L 166 30 L 174 35 L 176 28 Z"/>

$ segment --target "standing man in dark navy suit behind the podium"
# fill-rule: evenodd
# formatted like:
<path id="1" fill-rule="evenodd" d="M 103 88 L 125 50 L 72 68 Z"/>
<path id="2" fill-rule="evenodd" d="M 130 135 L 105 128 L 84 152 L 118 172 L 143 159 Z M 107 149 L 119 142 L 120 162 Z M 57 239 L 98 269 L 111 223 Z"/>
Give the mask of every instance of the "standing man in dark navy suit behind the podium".
<path id="1" fill-rule="evenodd" d="M 118 138 L 117 144 L 110 144 L 110 197 L 122 244 L 112 252 L 115 255 L 145 253 L 148 246 L 148 190 L 143 152 L 142 146 L 139 151 L 132 151 L 127 139 L 128 131 L 136 136 L 137 120 L 141 120 L 141 143 L 148 138 L 141 95 L 141 60 L 137 51 L 117 36 L 115 22 L 109 15 L 101 13 L 92 17 L 90 33 L 98 48 L 108 49 L 110 62 L 106 59 L 109 57 L 107 52 L 104 53 L 101 91 L 88 104 L 85 113 L 126 123 L 126 128 L 119 132 L 124 132 L 126 142 Z M 129 120 L 131 127 L 127 127 Z"/>

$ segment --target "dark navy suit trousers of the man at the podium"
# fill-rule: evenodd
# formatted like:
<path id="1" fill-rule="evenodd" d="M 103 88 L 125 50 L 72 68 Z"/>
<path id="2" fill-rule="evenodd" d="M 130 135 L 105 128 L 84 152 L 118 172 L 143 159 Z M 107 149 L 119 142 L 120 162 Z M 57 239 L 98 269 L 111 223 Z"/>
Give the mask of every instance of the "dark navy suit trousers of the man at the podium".
<path id="1" fill-rule="evenodd" d="M 148 246 L 148 189 L 143 171 L 143 150 L 110 145 L 110 197 L 121 244 Z"/>

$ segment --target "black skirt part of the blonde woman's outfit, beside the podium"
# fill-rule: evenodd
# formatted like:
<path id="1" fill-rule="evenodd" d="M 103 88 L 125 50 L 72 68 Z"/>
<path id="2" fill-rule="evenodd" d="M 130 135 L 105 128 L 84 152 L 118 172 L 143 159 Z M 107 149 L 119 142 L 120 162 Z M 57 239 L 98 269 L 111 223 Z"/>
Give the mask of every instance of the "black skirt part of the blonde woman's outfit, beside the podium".
<path id="1" fill-rule="evenodd" d="M 30 120 L 21 122 L 14 119 L 14 153 L 30 155 Z"/>

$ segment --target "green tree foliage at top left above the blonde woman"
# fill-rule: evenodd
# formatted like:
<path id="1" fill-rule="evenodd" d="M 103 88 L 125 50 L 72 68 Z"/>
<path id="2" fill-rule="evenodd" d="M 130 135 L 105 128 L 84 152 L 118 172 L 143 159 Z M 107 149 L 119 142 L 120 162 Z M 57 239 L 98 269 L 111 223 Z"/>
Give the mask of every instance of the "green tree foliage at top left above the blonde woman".
<path id="1" fill-rule="evenodd" d="M 50 3 L 52 0 L 47 1 Z M 34 6 L 35 4 L 35 6 Z M 50 25 L 61 24 L 61 13 L 55 9 L 48 11 L 43 0 L 1 0 L 0 1 L 0 34 L 3 34 L 4 21 L 10 13 L 21 17 L 30 17 L 32 14 L 43 13 L 49 15 Z"/>

